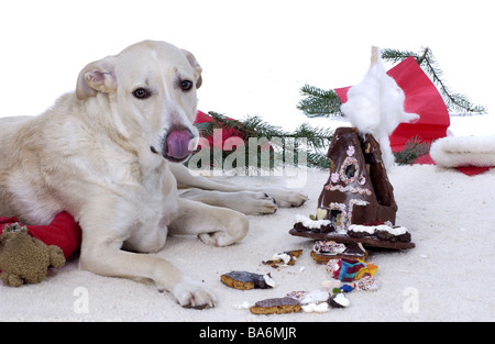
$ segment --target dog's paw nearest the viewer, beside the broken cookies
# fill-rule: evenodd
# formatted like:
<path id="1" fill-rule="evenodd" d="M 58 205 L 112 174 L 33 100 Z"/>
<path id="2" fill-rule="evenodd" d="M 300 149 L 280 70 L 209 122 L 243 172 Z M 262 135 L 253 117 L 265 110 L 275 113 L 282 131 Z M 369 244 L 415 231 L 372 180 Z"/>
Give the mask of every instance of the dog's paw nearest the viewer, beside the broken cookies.
<path id="1" fill-rule="evenodd" d="M 217 303 L 217 298 L 210 290 L 187 276 L 175 286 L 173 295 L 184 308 L 201 310 L 213 308 Z"/>

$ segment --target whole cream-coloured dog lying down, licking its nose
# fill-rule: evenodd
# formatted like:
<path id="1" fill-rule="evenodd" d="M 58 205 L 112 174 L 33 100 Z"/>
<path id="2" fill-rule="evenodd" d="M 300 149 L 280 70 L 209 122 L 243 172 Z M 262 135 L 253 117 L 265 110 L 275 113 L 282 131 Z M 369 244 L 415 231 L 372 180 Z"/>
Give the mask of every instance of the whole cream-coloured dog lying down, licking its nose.
<path id="1" fill-rule="evenodd" d="M 221 193 L 178 197 L 174 171 L 196 187 L 244 192 L 234 206 L 244 213 L 273 212 L 276 204 L 274 196 L 196 178 L 175 164 L 197 144 L 193 122 L 200 85 L 201 67 L 193 54 L 145 41 L 87 65 L 76 91 L 43 114 L 1 119 L 0 214 L 45 224 L 67 211 L 82 229 L 80 268 L 148 278 L 183 307 L 213 307 L 215 296 L 200 282 L 146 253 L 160 251 L 168 234 L 233 244 L 246 235 L 248 218 L 197 201 L 232 206 Z M 279 206 L 306 200 L 273 191 Z"/>

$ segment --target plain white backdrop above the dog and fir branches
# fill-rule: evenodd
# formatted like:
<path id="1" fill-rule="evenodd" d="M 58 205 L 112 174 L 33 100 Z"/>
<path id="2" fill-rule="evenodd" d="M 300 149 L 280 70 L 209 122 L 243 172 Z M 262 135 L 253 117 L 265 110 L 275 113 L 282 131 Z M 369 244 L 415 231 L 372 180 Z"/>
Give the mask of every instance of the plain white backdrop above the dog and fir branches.
<path id="1" fill-rule="evenodd" d="M 2 0 L 0 116 L 43 112 L 87 63 L 152 38 L 196 55 L 200 110 L 292 129 L 309 121 L 302 85 L 359 82 L 372 45 L 429 46 L 447 84 L 488 109 L 473 133 L 495 133 L 493 13 L 487 0 Z"/>

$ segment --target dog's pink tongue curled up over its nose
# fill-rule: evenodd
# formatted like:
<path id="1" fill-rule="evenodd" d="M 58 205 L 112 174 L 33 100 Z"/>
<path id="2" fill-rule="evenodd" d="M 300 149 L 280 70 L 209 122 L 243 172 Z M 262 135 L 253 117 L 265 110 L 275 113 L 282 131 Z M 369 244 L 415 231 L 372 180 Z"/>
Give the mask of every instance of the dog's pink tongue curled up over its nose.
<path id="1" fill-rule="evenodd" d="M 183 163 L 193 154 L 196 143 L 197 137 L 188 129 L 172 129 L 162 140 L 162 155 L 169 162 Z M 151 146 L 150 149 L 160 154 L 154 146 Z"/>

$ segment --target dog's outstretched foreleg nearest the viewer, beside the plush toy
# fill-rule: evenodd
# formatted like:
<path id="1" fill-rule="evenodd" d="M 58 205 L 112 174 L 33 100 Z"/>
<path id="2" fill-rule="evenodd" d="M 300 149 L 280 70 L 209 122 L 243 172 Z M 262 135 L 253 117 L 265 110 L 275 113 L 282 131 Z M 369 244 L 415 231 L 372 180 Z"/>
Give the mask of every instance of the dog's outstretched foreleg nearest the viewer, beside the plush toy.
<path id="1" fill-rule="evenodd" d="M 180 306 L 204 309 L 213 307 L 215 296 L 200 282 L 184 276 L 169 262 L 160 257 L 122 251 L 124 237 L 111 221 L 97 223 L 82 218 L 84 229 L 79 267 L 102 276 L 147 278 L 155 281 L 161 290 L 168 290 Z M 113 230 L 111 230 L 113 229 Z"/>

